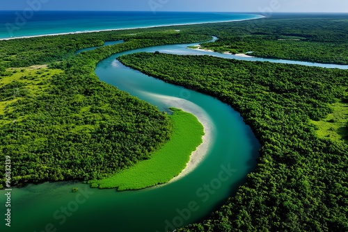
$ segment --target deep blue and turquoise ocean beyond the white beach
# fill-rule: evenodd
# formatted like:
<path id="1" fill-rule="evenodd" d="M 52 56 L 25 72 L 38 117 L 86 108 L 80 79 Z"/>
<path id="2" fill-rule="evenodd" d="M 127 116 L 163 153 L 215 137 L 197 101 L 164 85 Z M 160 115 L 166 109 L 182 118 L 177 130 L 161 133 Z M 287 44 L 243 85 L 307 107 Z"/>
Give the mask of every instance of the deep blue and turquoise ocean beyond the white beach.
<path id="1" fill-rule="evenodd" d="M 31 8 L 0 11 L 0 39 L 82 33 L 125 28 L 201 24 L 255 19 L 239 13 L 35 11 Z"/>

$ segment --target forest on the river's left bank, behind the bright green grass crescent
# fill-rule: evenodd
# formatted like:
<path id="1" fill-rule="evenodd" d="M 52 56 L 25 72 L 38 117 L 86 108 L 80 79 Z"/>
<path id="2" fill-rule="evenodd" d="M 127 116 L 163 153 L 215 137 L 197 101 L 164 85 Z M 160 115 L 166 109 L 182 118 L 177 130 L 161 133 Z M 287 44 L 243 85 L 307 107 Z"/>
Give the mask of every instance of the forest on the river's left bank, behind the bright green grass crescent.
<path id="1" fill-rule="evenodd" d="M 102 44 L 96 36 L 89 43 L 88 34 L 0 42 L 6 53 L 1 62 L 9 67 L 52 62 L 51 69 L 3 69 L 0 77 L 0 156 L 11 157 L 13 185 L 102 179 L 149 158 L 171 135 L 168 116 L 99 81 L 95 65 L 120 51 L 210 38 L 157 29 L 73 56 L 79 41 L 83 47 Z M 117 33 L 100 38 L 120 39 Z M 4 178 L 1 172 L 2 183 Z"/>

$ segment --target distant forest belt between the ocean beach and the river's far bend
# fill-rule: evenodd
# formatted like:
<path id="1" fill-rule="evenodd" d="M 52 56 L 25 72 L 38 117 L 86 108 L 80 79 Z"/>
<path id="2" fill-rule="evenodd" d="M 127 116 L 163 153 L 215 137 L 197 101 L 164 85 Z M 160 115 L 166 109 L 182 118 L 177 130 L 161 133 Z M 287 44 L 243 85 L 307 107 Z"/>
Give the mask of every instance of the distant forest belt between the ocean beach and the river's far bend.
<path id="1" fill-rule="evenodd" d="M 180 33 L 174 30 L 180 30 Z M 202 35 L 219 40 L 203 47 L 253 56 L 348 64 L 347 15 L 276 15 L 244 22 L 168 26 L 147 29 L 81 33 L 17 40 L 0 40 L 0 73 L 6 67 L 27 67 L 63 60 L 78 49 L 100 46 L 104 41 L 160 38 L 171 44 L 170 35 Z M 166 32 L 166 33 L 163 33 Z M 193 39 L 196 37 L 196 40 Z M 206 39 L 200 40 L 200 42 Z M 185 42 L 185 40 L 182 40 Z"/>

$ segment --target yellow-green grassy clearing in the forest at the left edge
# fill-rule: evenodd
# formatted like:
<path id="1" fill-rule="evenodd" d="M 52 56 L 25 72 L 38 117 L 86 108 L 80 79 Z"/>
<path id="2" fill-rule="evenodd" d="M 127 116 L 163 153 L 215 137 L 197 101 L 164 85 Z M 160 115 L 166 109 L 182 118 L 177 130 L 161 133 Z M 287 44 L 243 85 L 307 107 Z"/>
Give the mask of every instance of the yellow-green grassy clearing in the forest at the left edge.
<path id="1" fill-rule="evenodd" d="M 62 72 L 61 69 L 49 69 L 47 65 L 6 69 L 7 75 L 0 76 L 0 115 L 12 112 L 14 108 L 11 105 L 16 101 L 24 97 L 37 97 L 45 92 L 52 76 Z M 8 122 L 12 120 L 0 118 L 0 125 Z"/>

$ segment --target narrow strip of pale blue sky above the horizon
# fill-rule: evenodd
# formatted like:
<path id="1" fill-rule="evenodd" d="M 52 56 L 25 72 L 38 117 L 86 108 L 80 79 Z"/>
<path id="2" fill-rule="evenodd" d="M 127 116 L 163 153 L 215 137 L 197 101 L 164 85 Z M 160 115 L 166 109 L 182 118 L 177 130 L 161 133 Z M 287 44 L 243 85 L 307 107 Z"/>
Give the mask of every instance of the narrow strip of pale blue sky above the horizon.
<path id="1" fill-rule="evenodd" d="M 0 10 L 348 13 L 348 0 L 0 0 Z"/>

